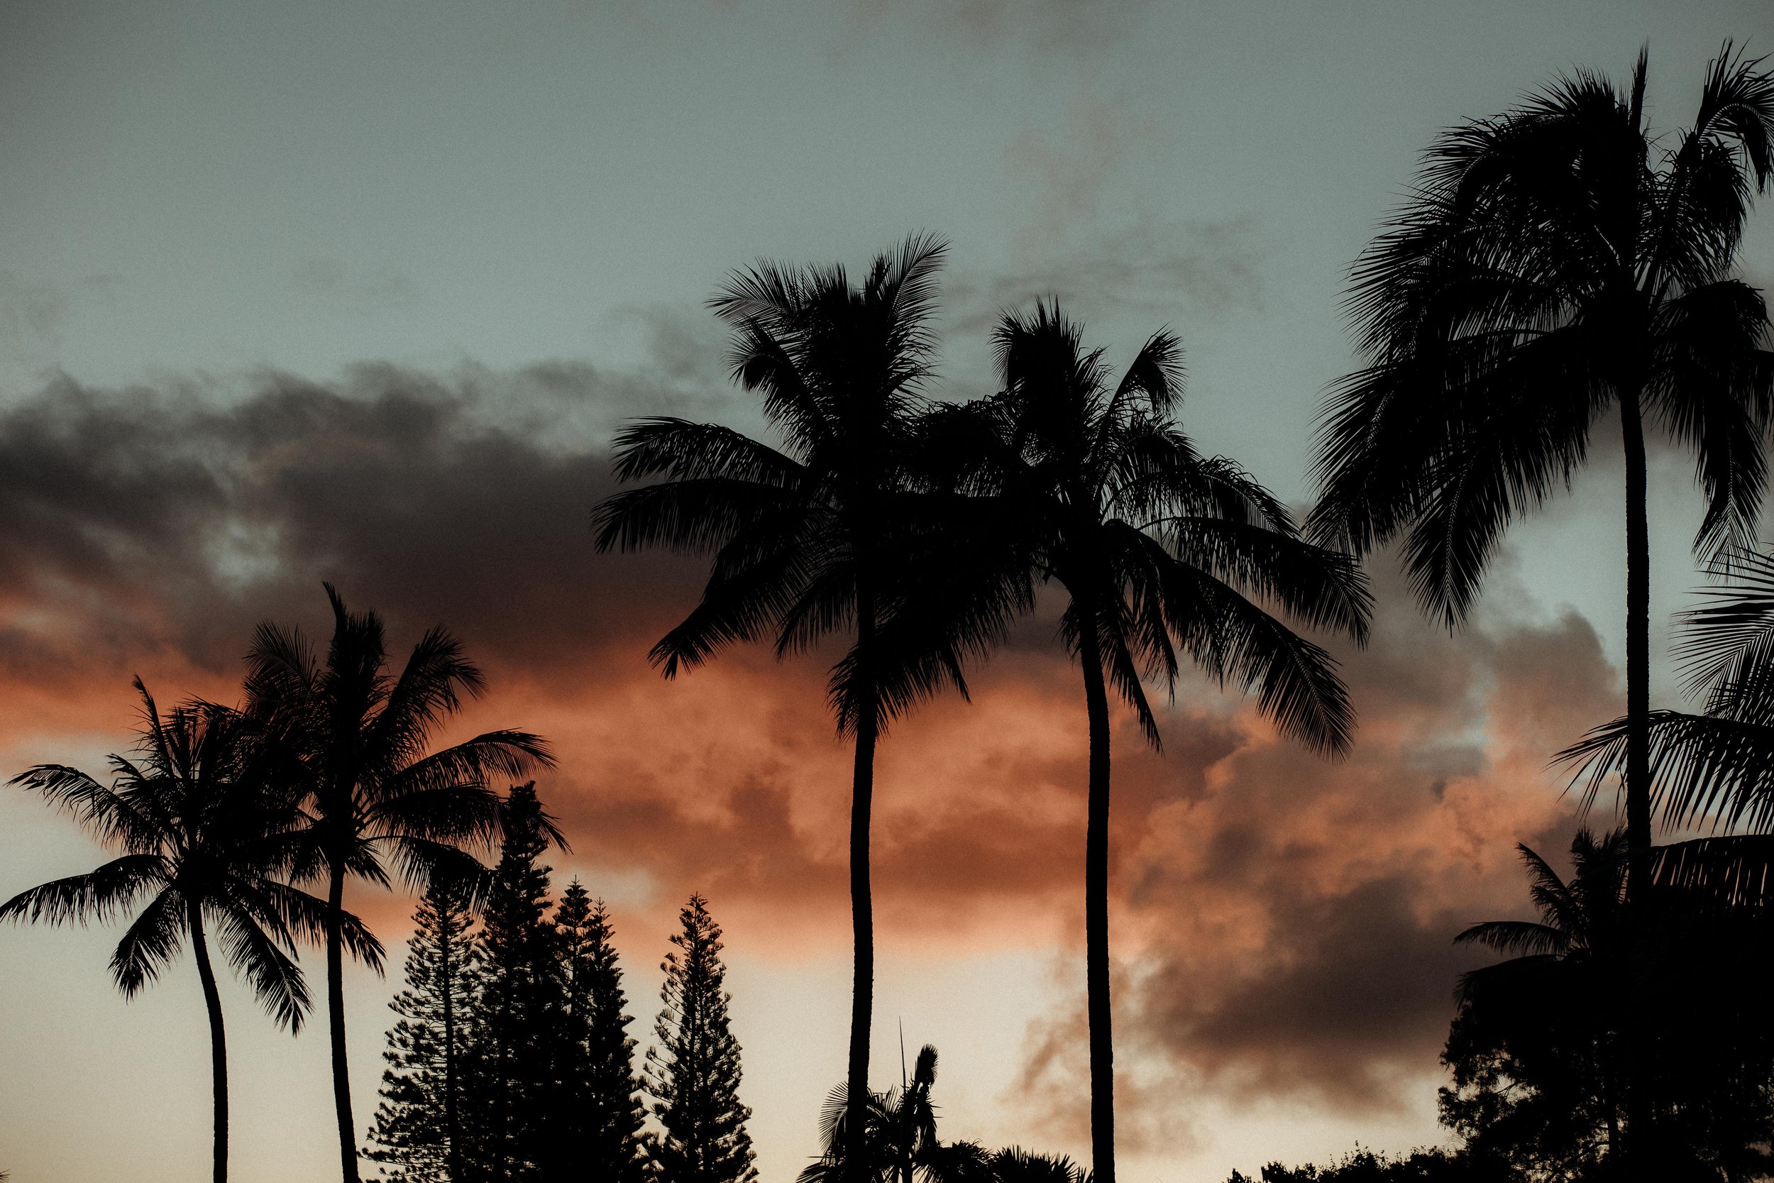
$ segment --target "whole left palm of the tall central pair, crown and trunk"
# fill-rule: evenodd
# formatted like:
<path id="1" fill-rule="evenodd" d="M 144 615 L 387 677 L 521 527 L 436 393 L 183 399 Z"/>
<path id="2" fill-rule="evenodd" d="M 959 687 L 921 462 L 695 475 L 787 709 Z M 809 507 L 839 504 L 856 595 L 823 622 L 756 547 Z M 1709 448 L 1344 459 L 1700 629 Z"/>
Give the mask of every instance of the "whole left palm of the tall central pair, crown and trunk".
<path id="1" fill-rule="evenodd" d="M 876 741 L 942 685 L 965 693 L 963 660 L 985 653 L 1024 607 L 1015 589 L 972 578 L 977 555 L 992 546 L 914 481 L 944 250 L 933 238 L 908 238 L 857 284 L 841 266 L 759 262 L 733 275 L 710 307 L 733 325 L 733 376 L 763 396 L 782 447 L 715 424 L 640 420 L 616 438 L 616 472 L 623 481 L 665 479 L 596 511 L 598 550 L 715 552 L 701 603 L 653 647 L 667 678 L 736 640 L 770 637 L 786 656 L 830 635 L 850 637 L 828 685 L 839 733 L 855 740 L 853 1112 L 867 1105 L 875 999 Z"/>

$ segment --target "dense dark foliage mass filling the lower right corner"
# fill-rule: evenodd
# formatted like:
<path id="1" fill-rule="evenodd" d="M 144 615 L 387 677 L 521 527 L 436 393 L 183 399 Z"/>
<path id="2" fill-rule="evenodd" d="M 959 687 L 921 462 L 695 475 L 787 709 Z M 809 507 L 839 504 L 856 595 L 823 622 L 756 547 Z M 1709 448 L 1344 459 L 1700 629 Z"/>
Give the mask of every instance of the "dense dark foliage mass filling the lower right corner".
<path id="1" fill-rule="evenodd" d="M 1673 887 L 1630 910 L 1621 830 L 1577 834 L 1568 880 L 1520 851 L 1540 919 L 1474 924 L 1456 938 L 1515 954 L 1462 979 L 1440 1107 L 1465 1153 L 1535 1179 L 1613 1179 L 1621 1165 L 1653 1178 L 1762 1178 L 1774 1167 L 1774 1039 L 1760 1022 L 1774 968 L 1767 915 Z M 1621 990 L 1632 974 L 1643 981 Z M 1730 1036 L 1696 1038 L 1698 997 Z M 1648 1084 L 1627 1075 L 1627 1032 Z M 1655 1137 L 1637 1135 L 1639 1121 L 1655 1123 Z"/>

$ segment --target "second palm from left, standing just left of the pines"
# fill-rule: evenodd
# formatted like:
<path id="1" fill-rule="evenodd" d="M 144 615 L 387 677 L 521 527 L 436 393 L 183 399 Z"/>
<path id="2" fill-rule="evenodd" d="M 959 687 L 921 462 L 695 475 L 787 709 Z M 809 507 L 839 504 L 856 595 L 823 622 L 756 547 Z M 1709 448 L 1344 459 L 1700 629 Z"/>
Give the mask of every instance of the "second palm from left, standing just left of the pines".
<path id="1" fill-rule="evenodd" d="M 348 878 L 387 887 L 389 864 L 410 887 L 484 883 L 484 867 L 459 844 L 488 850 L 500 798 L 488 787 L 532 768 L 552 768 L 548 743 L 527 731 L 490 731 L 428 752 L 438 727 L 479 697 L 481 670 L 442 626 L 431 628 L 399 676 L 387 670 L 381 619 L 353 614 L 326 584 L 334 635 L 316 660 L 300 630 L 261 624 L 247 656 L 248 711 L 300 761 L 303 825 L 293 873 L 325 881 L 326 1018 L 334 1105 L 346 1183 L 357 1183 L 357 1126 L 344 1043 Z M 355 952 L 355 949 L 353 949 Z"/>

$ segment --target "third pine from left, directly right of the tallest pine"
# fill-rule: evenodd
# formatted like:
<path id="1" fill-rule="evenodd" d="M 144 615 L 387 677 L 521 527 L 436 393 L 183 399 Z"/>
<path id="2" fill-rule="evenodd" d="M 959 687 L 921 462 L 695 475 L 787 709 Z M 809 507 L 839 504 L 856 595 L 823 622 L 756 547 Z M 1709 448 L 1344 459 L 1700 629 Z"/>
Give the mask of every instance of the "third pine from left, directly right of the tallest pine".
<path id="1" fill-rule="evenodd" d="M 566 967 L 566 1011 L 573 1043 L 566 1073 L 571 1110 L 566 1140 L 585 1174 L 608 1183 L 642 1178 L 642 1107 L 635 1080 L 635 1041 L 623 1013 L 623 970 L 616 963 L 610 912 L 573 880 L 555 910 Z"/>

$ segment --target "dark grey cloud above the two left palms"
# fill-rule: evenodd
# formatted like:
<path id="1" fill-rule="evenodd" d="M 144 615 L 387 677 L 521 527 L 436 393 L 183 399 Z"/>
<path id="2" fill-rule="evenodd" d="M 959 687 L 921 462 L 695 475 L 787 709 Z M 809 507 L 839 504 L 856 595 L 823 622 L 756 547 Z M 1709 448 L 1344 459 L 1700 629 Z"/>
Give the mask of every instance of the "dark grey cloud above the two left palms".
<path id="1" fill-rule="evenodd" d="M 167 647 L 216 669 L 263 615 L 314 621 L 325 578 L 397 626 L 449 623 L 484 662 L 562 672 L 656 628 L 662 585 L 694 594 L 681 562 L 593 553 L 610 427 L 722 408 L 573 362 L 59 378 L 0 411 L 0 658 L 25 674 Z"/>

